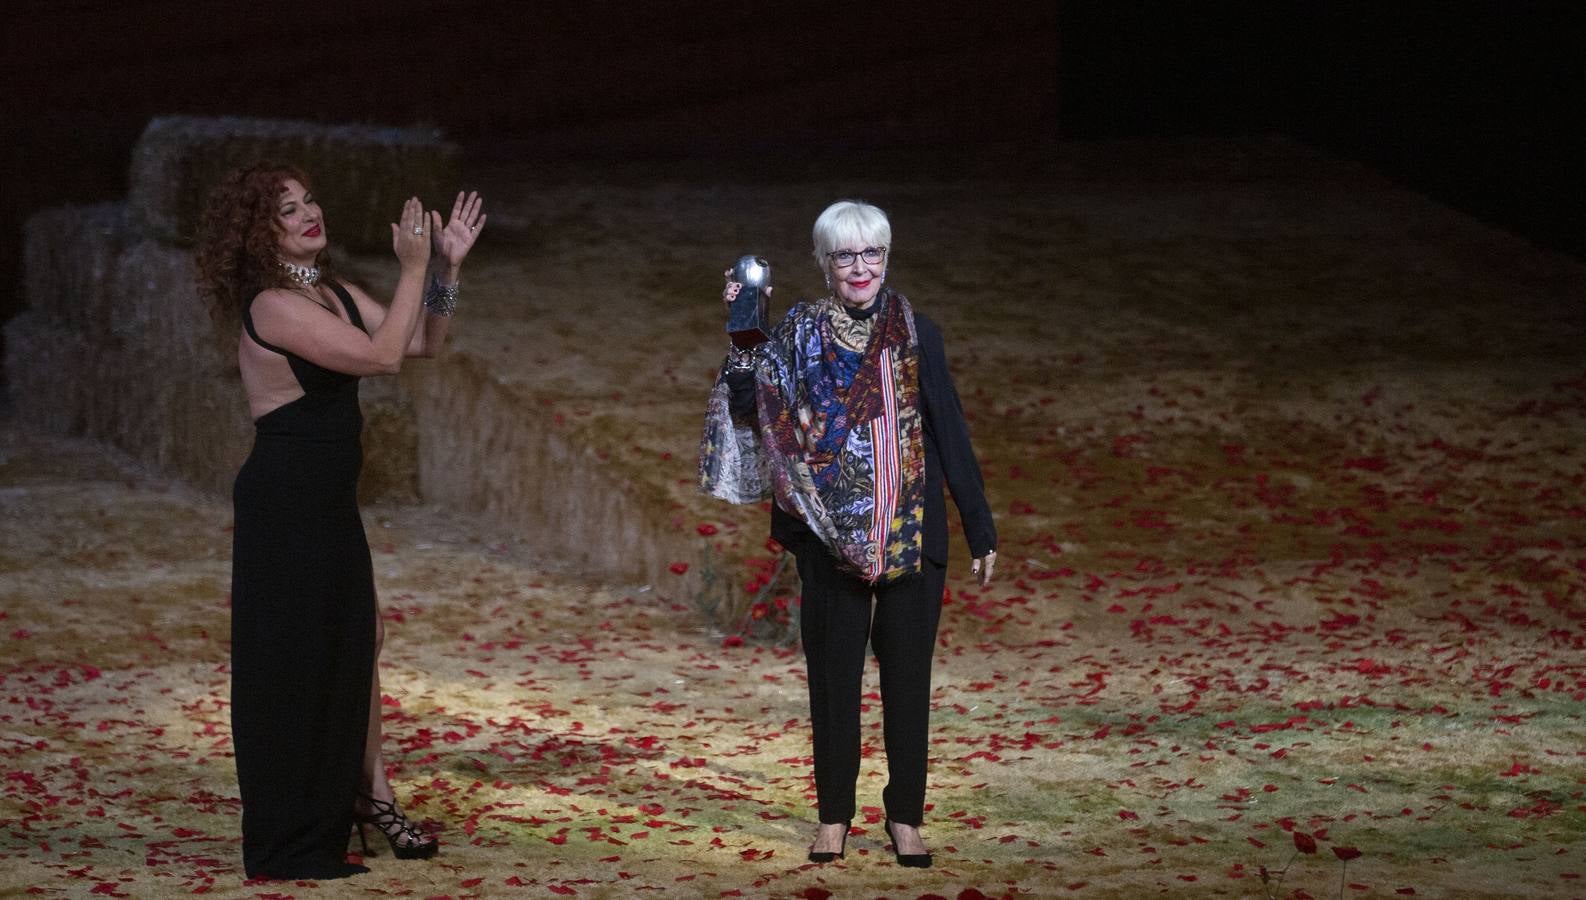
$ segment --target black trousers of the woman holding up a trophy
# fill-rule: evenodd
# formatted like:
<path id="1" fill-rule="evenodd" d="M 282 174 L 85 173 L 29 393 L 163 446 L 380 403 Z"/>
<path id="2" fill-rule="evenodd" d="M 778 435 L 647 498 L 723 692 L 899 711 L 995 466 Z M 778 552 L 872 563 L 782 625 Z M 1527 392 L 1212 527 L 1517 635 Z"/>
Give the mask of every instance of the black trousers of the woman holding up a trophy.
<path id="1" fill-rule="evenodd" d="M 925 819 L 931 656 L 947 567 L 921 560 L 917 575 L 877 587 L 839 571 L 837 560 L 820 544 L 804 548 L 796 557 L 804 595 L 799 625 L 809 668 L 820 821 L 853 819 L 853 787 L 860 778 L 860 687 L 869 641 L 882 671 L 887 741 L 882 803 L 888 819 L 918 827 Z"/>

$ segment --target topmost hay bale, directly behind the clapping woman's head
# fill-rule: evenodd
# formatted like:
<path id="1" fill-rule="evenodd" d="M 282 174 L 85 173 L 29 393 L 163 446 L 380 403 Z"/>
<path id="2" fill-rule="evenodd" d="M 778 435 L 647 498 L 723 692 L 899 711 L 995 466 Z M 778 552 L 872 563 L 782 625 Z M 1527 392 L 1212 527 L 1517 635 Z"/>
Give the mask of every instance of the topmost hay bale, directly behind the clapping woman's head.
<path id="1" fill-rule="evenodd" d="M 389 251 L 408 197 L 450 208 L 457 190 L 457 146 L 436 129 L 168 116 L 151 121 L 133 148 L 132 216 L 163 241 L 190 244 L 220 176 L 259 160 L 303 168 L 330 240 L 354 251 Z"/>

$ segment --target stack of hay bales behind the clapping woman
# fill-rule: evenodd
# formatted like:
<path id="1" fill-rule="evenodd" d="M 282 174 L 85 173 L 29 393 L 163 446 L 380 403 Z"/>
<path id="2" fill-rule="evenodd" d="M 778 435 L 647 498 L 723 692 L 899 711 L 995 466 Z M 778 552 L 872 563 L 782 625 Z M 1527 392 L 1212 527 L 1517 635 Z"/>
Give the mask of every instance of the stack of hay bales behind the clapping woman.
<path id="1" fill-rule="evenodd" d="M 25 225 L 27 308 L 6 329 L 5 360 L 24 422 L 230 490 L 252 424 L 236 335 L 217 333 L 198 297 L 192 243 L 209 189 L 257 160 L 308 171 L 335 249 L 352 252 L 390 254 L 403 200 L 433 203 L 457 181 L 457 148 L 433 130 L 152 121 L 125 203 L 48 210 Z M 417 437 L 400 383 L 365 381 L 363 411 L 365 498 L 416 497 Z"/>

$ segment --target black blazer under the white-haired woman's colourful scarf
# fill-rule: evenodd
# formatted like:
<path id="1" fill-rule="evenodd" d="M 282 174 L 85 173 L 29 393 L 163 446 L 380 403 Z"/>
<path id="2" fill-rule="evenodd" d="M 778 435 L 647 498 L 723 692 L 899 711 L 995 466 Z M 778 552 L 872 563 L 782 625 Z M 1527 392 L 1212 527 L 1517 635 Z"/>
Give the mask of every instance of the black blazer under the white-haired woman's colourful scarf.
<path id="1" fill-rule="evenodd" d="M 958 402 L 953 375 L 947 370 L 947 349 L 936 322 L 915 311 L 915 335 L 920 338 L 920 419 L 925 425 L 925 557 L 937 565 L 947 565 L 947 498 L 945 486 L 953 492 L 953 503 L 964 522 L 964 538 L 969 554 L 975 559 L 996 549 L 996 524 L 986 503 L 980 463 L 969 443 L 969 424 Z M 731 411 L 737 421 L 753 421 L 755 379 L 749 371 L 728 371 L 726 384 L 733 392 Z M 771 537 L 795 554 L 823 544 L 801 519 L 771 505 Z"/>

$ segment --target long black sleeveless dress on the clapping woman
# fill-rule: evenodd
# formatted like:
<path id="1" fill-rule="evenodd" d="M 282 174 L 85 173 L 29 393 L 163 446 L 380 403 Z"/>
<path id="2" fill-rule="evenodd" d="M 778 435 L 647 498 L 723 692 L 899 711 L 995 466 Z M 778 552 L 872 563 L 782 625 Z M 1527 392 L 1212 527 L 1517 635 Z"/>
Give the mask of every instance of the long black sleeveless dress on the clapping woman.
<path id="1" fill-rule="evenodd" d="M 352 297 L 331 290 L 352 324 Z M 358 517 L 358 378 L 279 352 L 303 397 L 260 416 L 232 492 L 232 737 L 249 878 L 339 878 L 363 778 L 374 573 Z"/>

